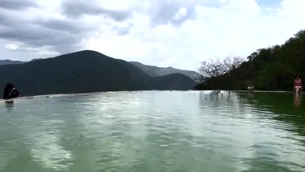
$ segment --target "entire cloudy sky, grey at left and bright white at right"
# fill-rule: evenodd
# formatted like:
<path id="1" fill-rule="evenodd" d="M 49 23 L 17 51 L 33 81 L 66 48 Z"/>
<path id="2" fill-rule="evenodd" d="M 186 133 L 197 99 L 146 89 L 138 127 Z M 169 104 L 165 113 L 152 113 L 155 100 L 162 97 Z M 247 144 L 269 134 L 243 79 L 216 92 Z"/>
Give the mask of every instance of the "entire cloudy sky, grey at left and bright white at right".
<path id="1" fill-rule="evenodd" d="M 196 70 L 283 44 L 305 29 L 303 9 L 304 0 L 0 0 L 0 59 L 89 49 Z"/>

